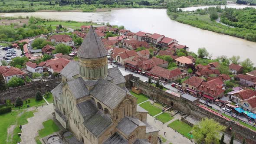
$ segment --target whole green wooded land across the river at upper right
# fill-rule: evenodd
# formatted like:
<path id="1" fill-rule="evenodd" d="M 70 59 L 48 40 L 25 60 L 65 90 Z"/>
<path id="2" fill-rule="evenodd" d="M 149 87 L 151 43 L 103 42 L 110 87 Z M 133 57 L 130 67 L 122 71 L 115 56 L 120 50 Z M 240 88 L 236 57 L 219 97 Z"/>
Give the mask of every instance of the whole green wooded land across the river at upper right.
<path id="1" fill-rule="evenodd" d="M 193 12 L 168 9 L 167 14 L 180 23 L 256 42 L 256 9 L 253 8 L 209 7 Z M 216 21 L 218 17 L 221 23 Z"/>

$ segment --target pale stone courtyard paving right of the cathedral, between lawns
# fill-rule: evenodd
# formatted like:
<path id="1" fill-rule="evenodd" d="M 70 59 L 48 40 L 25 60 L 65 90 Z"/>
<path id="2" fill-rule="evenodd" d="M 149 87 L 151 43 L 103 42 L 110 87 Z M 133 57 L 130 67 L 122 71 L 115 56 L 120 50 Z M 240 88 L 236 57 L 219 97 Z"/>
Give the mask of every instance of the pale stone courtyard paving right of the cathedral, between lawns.
<path id="1" fill-rule="evenodd" d="M 178 115 L 176 117 L 175 116 L 174 118 L 179 119 Z M 171 120 L 171 122 L 172 121 L 174 121 L 174 119 Z M 167 140 L 164 144 L 169 144 L 170 142 L 172 144 L 194 144 L 194 142 L 191 142 L 186 137 L 183 137 L 180 133 L 175 132 L 173 129 L 167 127 L 167 123 L 171 123 L 171 122 L 167 122 L 163 124 L 161 121 L 158 121 L 158 120 L 154 121 L 154 117 L 150 115 L 147 115 L 147 122 L 149 125 L 154 125 L 156 128 L 160 130 L 159 135 L 161 135 Z M 166 132 L 165 136 L 164 136 L 164 132 Z"/>

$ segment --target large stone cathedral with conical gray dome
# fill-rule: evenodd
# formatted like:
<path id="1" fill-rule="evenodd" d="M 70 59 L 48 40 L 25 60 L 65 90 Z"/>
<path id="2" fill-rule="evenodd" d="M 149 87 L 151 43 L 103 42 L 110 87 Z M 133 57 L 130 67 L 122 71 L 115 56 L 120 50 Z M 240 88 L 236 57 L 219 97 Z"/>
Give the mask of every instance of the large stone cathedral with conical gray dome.
<path id="1" fill-rule="evenodd" d="M 60 72 L 52 90 L 55 117 L 84 144 L 157 144 L 158 129 L 125 87 L 117 67 L 108 69 L 108 52 L 93 27 L 77 56 Z"/>

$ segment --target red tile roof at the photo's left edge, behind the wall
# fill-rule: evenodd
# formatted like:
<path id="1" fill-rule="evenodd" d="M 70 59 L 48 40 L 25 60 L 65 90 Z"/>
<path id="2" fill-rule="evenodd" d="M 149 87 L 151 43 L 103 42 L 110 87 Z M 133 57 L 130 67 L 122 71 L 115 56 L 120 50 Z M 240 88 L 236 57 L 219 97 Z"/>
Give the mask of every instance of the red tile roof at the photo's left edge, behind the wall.
<path id="1" fill-rule="evenodd" d="M 12 66 L 0 66 L 0 73 L 3 74 L 4 77 L 11 75 L 25 75 L 26 73 L 21 71 L 18 68 Z"/>

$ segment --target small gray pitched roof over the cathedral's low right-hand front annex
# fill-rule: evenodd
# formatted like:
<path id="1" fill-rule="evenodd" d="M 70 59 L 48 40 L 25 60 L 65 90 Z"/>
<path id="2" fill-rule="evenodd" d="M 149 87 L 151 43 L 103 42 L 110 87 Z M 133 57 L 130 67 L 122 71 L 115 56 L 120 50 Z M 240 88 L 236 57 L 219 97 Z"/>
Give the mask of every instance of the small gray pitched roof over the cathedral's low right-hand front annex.
<path id="1" fill-rule="evenodd" d="M 122 118 L 116 126 L 116 128 L 124 133 L 126 136 L 129 136 L 133 131 L 135 131 L 137 127 L 138 125 L 129 120 L 127 117 Z"/>

